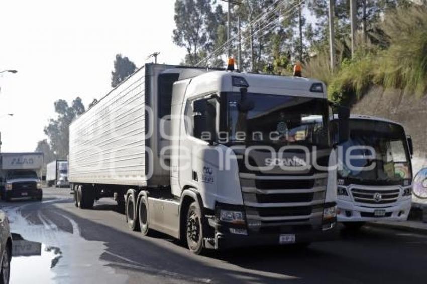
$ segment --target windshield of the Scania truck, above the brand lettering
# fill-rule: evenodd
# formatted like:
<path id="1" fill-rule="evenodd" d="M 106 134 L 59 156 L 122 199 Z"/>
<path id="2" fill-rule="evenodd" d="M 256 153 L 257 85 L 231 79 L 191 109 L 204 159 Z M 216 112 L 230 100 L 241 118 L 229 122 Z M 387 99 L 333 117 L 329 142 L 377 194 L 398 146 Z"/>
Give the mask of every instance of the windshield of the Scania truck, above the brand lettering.
<path id="1" fill-rule="evenodd" d="M 228 93 L 226 107 L 225 127 L 231 143 L 329 146 L 325 99 Z"/>

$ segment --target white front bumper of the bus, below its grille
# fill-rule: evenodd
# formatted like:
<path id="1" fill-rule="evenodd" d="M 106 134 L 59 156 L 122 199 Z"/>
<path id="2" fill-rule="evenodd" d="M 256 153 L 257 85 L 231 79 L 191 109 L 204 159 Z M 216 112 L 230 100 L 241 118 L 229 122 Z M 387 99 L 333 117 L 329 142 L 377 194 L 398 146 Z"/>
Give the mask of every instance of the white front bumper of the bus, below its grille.
<path id="1" fill-rule="evenodd" d="M 405 221 L 408 218 L 411 208 L 411 198 L 398 201 L 391 207 L 362 207 L 354 202 L 338 200 L 338 221 L 339 222 L 367 222 L 367 221 Z M 375 217 L 375 210 L 385 210 L 384 217 Z"/>

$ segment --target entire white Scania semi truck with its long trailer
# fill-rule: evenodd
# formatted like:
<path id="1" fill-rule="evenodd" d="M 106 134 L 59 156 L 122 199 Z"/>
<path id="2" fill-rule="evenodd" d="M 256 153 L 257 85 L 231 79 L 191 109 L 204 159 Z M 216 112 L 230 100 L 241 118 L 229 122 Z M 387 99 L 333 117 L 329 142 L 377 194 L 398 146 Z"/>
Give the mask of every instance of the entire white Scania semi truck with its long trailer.
<path id="1" fill-rule="evenodd" d="M 70 125 L 75 204 L 114 197 L 194 253 L 334 239 L 330 115 L 316 80 L 146 64 Z"/>

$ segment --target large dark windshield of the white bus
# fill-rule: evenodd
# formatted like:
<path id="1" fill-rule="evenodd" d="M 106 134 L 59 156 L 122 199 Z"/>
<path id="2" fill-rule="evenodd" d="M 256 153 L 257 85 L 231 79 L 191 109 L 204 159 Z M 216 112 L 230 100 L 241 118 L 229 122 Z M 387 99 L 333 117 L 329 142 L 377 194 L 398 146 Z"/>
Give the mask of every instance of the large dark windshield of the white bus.
<path id="1" fill-rule="evenodd" d="M 341 178 L 348 178 L 369 183 L 400 184 L 403 180 L 412 179 L 410 155 L 403 128 L 394 123 L 368 119 L 350 120 L 350 139 L 343 145 L 343 169 L 338 171 Z M 370 146 L 375 150 L 375 158 L 368 159 L 371 151 L 354 149 L 347 153 L 351 146 Z M 347 155 L 360 155 L 361 159 L 349 159 Z M 375 162 L 375 167 L 372 168 Z M 353 167 L 351 167 L 353 166 Z M 355 167 L 369 167 L 355 169 Z"/>

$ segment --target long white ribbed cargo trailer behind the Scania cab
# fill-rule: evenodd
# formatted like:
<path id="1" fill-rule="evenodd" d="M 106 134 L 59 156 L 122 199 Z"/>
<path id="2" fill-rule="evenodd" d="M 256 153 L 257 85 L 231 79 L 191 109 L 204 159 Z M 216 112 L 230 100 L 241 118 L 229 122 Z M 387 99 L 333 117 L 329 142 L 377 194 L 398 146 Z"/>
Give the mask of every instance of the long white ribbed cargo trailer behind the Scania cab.
<path id="1" fill-rule="evenodd" d="M 181 70 L 146 64 L 71 123 L 70 183 L 169 185 L 157 127 Z"/>

